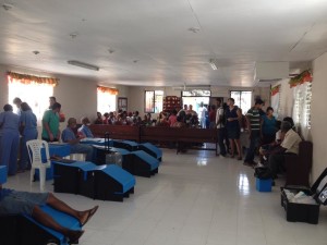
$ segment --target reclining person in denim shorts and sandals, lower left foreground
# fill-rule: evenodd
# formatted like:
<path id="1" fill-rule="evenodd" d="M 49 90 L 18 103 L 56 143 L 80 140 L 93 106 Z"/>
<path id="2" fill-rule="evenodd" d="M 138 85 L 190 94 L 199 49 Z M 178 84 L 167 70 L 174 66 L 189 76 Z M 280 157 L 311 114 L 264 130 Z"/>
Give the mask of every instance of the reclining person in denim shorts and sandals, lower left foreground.
<path id="1" fill-rule="evenodd" d="M 66 236 L 71 244 L 74 244 L 83 235 L 83 230 L 70 230 L 61 226 L 56 220 L 44 212 L 40 206 L 48 205 L 53 209 L 65 212 L 76 218 L 83 226 L 97 211 L 98 206 L 85 211 L 77 211 L 58 199 L 51 193 L 28 193 L 2 188 L 0 184 L 0 216 L 3 215 L 26 215 Z"/>

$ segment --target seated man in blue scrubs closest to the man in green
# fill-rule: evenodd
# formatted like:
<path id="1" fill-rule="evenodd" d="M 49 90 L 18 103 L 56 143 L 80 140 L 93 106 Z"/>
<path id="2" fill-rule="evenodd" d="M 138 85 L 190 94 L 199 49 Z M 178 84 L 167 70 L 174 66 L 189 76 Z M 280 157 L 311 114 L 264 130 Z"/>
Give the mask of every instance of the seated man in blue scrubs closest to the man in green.
<path id="1" fill-rule="evenodd" d="M 84 137 L 76 138 L 76 135 L 73 131 L 73 128 L 76 127 L 76 119 L 69 119 L 68 126 L 62 131 L 61 134 L 62 142 L 71 145 L 71 154 L 86 154 L 86 161 L 92 161 L 93 147 L 89 145 L 80 144 L 80 140 Z"/>

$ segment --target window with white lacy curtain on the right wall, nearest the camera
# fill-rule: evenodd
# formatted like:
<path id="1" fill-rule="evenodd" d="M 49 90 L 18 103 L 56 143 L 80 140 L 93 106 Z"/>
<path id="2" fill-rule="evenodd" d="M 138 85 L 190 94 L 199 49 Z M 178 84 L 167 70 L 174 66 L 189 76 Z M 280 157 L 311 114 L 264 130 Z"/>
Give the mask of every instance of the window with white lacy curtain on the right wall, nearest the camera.
<path id="1" fill-rule="evenodd" d="M 312 83 L 304 83 L 294 88 L 293 119 L 296 126 L 311 128 Z"/>

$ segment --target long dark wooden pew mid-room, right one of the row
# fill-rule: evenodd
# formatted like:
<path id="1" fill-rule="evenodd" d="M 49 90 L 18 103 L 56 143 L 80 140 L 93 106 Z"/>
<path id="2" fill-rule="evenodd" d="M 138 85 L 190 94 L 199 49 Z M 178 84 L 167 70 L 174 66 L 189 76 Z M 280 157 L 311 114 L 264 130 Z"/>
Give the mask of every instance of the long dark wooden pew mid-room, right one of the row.
<path id="1" fill-rule="evenodd" d="M 215 128 L 142 126 L 140 135 L 141 142 L 175 142 L 178 146 L 183 143 L 213 143 L 214 148 L 197 147 L 196 149 L 215 150 L 216 156 L 218 155 L 218 133 Z M 191 145 L 185 146 L 189 148 Z"/>

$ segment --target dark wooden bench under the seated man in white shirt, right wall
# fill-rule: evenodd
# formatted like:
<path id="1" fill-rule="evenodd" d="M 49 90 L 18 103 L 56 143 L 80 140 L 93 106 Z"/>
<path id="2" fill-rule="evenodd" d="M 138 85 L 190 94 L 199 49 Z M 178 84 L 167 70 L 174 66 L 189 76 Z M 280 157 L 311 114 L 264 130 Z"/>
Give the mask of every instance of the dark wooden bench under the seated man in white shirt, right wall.
<path id="1" fill-rule="evenodd" d="M 310 187 L 310 172 L 313 162 L 313 144 L 303 140 L 299 145 L 299 155 L 286 156 L 286 186 L 303 185 Z"/>

